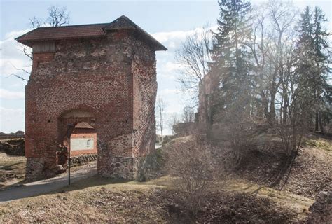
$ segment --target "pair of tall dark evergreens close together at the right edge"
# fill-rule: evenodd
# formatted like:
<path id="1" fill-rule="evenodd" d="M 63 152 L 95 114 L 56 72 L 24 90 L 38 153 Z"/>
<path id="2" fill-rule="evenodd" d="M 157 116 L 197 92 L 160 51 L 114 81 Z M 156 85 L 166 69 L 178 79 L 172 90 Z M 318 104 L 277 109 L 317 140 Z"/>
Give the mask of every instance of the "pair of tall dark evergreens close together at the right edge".
<path id="1" fill-rule="evenodd" d="M 321 23 L 326 22 L 321 9 L 316 7 L 314 13 L 307 6 L 299 21 L 299 38 L 297 43 L 298 63 L 296 64 L 297 81 L 300 94 L 307 102 L 312 102 L 315 130 L 324 132 L 322 114 L 329 114 L 328 75 L 329 47 L 326 38 L 328 33 L 322 29 Z M 311 99 L 311 100 L 310 100 Z M 327 110 L 327 111 L 326 111 Z M 331 112 L 330 112 L 331 113 Z"/>

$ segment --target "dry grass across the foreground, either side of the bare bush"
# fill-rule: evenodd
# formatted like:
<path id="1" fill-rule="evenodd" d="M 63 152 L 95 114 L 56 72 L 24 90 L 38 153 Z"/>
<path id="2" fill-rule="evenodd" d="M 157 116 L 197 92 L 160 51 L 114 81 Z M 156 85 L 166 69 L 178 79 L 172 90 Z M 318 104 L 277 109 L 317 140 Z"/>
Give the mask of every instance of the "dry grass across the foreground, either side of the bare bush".
<path id="1" fill-rule="evenodd" d="M 78 181 L 56 193 L 1 204 L 0 220 L 4 223 L 192 221 L 191 216 L 183 211 L 183 204 L 177 204 L 178 193 L 169 186 L 171 179 L 170 176 L 164 176 L 146 183 L 135 183 L 95 176 L 92 179 Z M 287 217 L 293 220 L 294 214 L 300 211 L 299 207 L 306 209 L 311 202 L 303 197 L 284 193 L 278 196 L 278 193 L 270 189 L 259 190 L 258 194 L 254 195 L 253 191 L 257 187 L 259 186 L 250 183 L 233 182 L 228 190 L 234 193 L 227 193 L 223 189 L 216 191 L 214 196 L 210 197 L 211 202 L 205 207 L 205 212 L 197 217 L 197 222 L 202 223 L 205 219 L 217 222 L 222 219 L 224 223 L 232 223 L 234 218 L 240 221 L 243 218 L 253 218 L 251 222 L 255 222 L 257 217 L 260 217 L 261 221 L 268 221 L 271 217 L 275 217 L 276 221 L 288 220 Z M 275 203 L 287 199 L 291 200 L 291 203 Z M 214 204 L 217 207 L 214 207 Z M 258 210 L 253 209 L 255 207 Z M 229 217 L 228 213 L 233 214 L 233 217 Z"/>

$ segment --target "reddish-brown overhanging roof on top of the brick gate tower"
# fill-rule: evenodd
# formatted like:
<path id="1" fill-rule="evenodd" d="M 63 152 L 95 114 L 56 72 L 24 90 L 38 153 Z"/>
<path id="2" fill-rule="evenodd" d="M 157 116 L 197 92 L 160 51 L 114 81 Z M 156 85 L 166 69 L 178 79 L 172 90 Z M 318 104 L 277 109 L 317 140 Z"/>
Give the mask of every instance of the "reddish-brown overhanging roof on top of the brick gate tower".
<path id="1" fill-rule="evenodd" d="M 39 27 L 32 31 L 15 38 L 19 43 L 32 46 L 36 41 L 53 41 L 68 38 L 92 38 L 103 36 L 108 30 L 118 29 L 134 29 L 139 36 L 148 40 L 155 50 L 167 50 L 161 43 L 159 43 L 153 36 L 137 26 L 132 20 L 125 15 L 110 23 L 99 23 L 90 25 L 74 25 L 63 27 Z"/>

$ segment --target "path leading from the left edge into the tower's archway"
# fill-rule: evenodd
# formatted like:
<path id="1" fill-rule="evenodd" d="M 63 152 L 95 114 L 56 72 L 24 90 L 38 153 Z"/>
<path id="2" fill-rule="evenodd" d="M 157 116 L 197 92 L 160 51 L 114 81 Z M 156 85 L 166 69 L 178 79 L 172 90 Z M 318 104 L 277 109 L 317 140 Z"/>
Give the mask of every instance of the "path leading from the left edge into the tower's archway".
<path id="1" fill-rule="evenodd" d="M 74 167 L 71 172 L 71 183 L 75 183 L 81 179 L 97 174 L 97 162 L 91 162 L 88 165 L 81 167 Z M 25 197 L 33 197 L 36 195 L 43 195 L 58 190 L 68 185 L 68 174 L 61 174 L 60 176 L 51 179 L 25 183 L 21 186 L 15 186 L 8 190 L 0 191 L 0 204 L 10 202 L 13 200 L 20 200 Z"/>

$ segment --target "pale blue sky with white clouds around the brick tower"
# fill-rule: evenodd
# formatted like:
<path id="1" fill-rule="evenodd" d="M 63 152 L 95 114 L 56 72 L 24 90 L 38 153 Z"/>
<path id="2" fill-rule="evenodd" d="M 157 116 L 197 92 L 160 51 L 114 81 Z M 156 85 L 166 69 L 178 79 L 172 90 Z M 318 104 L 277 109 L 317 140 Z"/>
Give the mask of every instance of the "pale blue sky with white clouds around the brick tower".
<path id="1" fill-rule="evenodd" d="M 265 0 L 251 1 L 253 4 Z M 302 10 L 305 6 L 319 6 L 328 21 L 332 19 L 332 3 L 329 0 L 293 1 Z M 66 6 L 70 13 L 70 25 L 111 22 L 126 15 L 139 27 L 152 34 L 168 48 L 158 51 L 157 80 L 158 96 L 167 102 L 165 111 L 170 116 L 181 113 L 188 104 L 188 96 L 179 90 L 179 64 L 174 52 L 194 29 L 209 24 L 216 25 L 219 18 L 218 1 L 6 1 L 0 0 L 0 132 L 25 130 L 25 85 L 26 82 L 10 76 L 20 73 L 17 69 L 29 65 L 21 45 L 14 38 L 30 30 L 29 18 L 46 18 L 50 6 Z M 328 30 L 332 31 L 332 22 Z M 9 77 L 8 77 L 9 76 Z M 166 127 L 164 131 L 170 134 Z"/>

